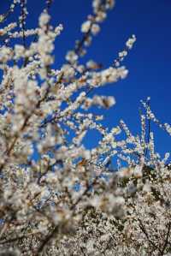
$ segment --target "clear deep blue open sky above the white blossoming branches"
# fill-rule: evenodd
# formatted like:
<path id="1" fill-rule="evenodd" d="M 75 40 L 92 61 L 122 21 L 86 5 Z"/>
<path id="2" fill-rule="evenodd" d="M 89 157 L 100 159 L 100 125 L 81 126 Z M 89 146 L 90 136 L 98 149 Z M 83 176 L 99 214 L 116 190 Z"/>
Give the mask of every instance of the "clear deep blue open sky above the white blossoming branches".
<path id="1" fill-rule="evenodd" d="M 35 27 L 38 14 L 44 8 L 43 0 L 27 0 L 29 27 Z M 1 12 L 10 1 L 1 1 Z M 80 24 L 91 13 L 91 0 L 54 0 L 50 14 L 52 23 L 62 23 L 64 31 L 56 40 L 56 67 L 63 63 L 66 51 L 73 49 L 80 39 Z M 152 110 L 162 122 L 171 122 L 171 1 L 118 0 L 109 12 L 101 33 L 94 38 L 87 58 L 93 58 L 108 67 L 133 33 L 137 43 L 124 65 L 129 69 L 126 80 L 98 90 L 113 95 L 116 105 L 104 111 L 105 123 L 110 128 L 122 118 L 134 133 L 139 131 L 139 101 L 151 98 Z M 96 92 L 96 93 L 97 93 Z M 156 129 L 156 148 L 170 152 L 168 134 Z M 95 139 L 94 139 L 95 140 Z"/>

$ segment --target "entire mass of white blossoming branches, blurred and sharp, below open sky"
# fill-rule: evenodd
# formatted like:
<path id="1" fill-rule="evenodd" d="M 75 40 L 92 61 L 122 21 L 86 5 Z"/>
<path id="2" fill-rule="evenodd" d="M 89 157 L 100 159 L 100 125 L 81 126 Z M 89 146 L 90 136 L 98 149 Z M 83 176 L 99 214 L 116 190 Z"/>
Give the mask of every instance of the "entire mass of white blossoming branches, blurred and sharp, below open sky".
<path id="1" fill-rule="evenodd" d="M 91 113 L 91 106 L 115 104 L 112 96 L 91 92 L 127 77 L 121 63 L 136 37 L 109 68 L 80 64 L 115 6 L 93 0 L 83 38 L 61 68 L 52 68 L 63 27 L 50 25 L 52 1 L 46 2 L 37 28 L 26 27 L 26 0 L 14 0 L 0 15 L 0 255 L 170 255 L 169 153 L 155 152 L 150 122 L 169 135 L 170 125 L 156 119 L 149 98 L 142 102 L 140 135 L 123 121 L 109 130 L 103 116 Z M 17 8 L 21 15 L 9 23 Z M 87 149 L 91 129 L 101 139 Z"/>

